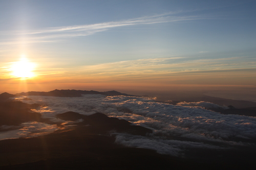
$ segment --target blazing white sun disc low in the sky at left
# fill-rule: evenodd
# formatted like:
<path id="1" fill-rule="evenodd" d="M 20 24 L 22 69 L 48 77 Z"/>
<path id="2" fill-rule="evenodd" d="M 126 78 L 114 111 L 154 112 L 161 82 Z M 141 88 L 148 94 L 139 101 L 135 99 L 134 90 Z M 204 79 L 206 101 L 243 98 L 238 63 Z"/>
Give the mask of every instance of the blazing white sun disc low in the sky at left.
<path id="1" fill-rule="evenodd" d="M 11 72 L 15 77 L 27 79 L 35 76 L 34 68 L 34 63 L 30 62 L 26 57 L 22 57 L 19 61 L 13 63 Z"/>

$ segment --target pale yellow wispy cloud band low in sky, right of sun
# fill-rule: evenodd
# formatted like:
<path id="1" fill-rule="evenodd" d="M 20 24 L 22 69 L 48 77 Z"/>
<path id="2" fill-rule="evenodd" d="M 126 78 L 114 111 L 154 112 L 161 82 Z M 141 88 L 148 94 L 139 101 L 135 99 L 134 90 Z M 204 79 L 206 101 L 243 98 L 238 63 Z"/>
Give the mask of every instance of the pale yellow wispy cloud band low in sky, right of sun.
<path id="1" fill-rule="evenodd" d="M 230 57 L 220 59 L 191 59 L 189 57 L 166 57 L 103 63 L 84 66 L 81 69 L 86 70 L 87 72 L 98 72 L 99 74 L 102 74 L 103 72 L 126 72 L 131 70 L 153 70 L 155 72 L 192 72 L 206 70 L 220 71 L 248 68 L 255 69 L 255 64 L 255 61 L 248 61 L 246 58 L 243 57 Z"/>

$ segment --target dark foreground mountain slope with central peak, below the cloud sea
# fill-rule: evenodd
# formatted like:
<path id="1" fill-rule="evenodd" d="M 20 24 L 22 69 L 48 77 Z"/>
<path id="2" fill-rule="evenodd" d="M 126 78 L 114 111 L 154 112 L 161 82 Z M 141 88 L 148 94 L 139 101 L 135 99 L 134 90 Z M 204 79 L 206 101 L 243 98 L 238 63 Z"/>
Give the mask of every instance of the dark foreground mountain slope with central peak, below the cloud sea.
<path id="1" fill-rule="evenodd" d="M 127 148 L 115 143 L 115 133 L 147 135 L 151 130 L 102 113 L 57 115 L 83 119 L 70 127 L 33 138 L 0 141 L 0 169 L 254 169 L 254 151 L 194 149 L 186 158 Z M 137 128 L 134 128 L 137 127 Z M 61 128 L 61 126 L 60 126 Z"/>

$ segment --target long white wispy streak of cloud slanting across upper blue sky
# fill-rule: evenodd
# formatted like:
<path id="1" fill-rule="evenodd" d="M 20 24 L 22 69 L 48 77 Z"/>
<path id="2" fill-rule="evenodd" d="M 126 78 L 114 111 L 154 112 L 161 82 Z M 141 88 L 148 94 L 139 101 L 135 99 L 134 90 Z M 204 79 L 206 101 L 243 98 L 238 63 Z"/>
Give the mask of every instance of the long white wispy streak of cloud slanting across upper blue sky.
<path id="1" fill-rule="evenodd" d="M 19 43 L 38 43 L 38 42 L 53 42 L 60 39 L 78 37 L 78 36 L 88 36 L 98 32 L 107 31 L 114 28 L 136 26 L 136 25 L 152 25 L 156 23 L 165 22 L 179 22 L 188 20 L 198 20 L 198 19 L 209 19 L 209 17 L 203 17 L 198 15 L 188 15 L 184 16 L 182 12 L 169 12 L 160 15 L 144 16 L 133 19 L 126 19 L 120 21 L 109 21 L 102 23 L 95 23 L 91 25 L 77 25 L 77 26 L 63 26 L 63 27 L 52 27 L 41 30 L 26 30 L 25 32 L 5 32 L 4 34 L 9 34 L 10 36 L 23 36 L 22 40 L 12 40 L 6 39 L 5 41 L 0 41 L 1 45 L 11 45 Z M 0 33 L 1 34 L 1 33 Z"/>

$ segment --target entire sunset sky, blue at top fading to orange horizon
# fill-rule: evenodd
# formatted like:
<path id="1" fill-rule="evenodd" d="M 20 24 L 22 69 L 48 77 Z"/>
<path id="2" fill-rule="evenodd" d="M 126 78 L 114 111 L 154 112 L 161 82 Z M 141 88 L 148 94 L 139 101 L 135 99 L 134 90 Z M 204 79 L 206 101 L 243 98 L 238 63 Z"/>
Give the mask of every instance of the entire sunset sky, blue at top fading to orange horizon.
<path id="1" fill-rule="evenodd" d="M 235 0 L 2 0 L 0 91 L 255 92 L 255 9 Z"/>

